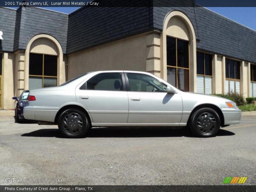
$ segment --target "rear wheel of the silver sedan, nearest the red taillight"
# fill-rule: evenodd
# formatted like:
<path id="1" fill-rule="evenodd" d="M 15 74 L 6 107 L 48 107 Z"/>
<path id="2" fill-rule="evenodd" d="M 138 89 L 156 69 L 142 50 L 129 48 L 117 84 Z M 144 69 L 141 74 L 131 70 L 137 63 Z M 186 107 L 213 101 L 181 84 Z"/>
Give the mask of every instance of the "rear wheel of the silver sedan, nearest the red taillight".
<path id="1" fill-rule="evenodd" d="M 60 132 L 69 138 L 81 138 L 90 128 L 88 117 L 79 109 L 67 109 L 58 118 Z"/>

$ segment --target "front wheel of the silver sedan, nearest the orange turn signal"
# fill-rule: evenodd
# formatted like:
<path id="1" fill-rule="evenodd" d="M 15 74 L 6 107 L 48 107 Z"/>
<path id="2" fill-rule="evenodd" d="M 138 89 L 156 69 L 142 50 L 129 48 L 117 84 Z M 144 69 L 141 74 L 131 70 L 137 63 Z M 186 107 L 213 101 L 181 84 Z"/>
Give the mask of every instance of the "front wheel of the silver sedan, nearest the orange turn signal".
<path id="1" fill-rule="evenodd" d="M 190 130 L 199 137 L 213 137 L 220 130 L 220 116 L 212 108 L 196 110 L 189 120 Z"/>

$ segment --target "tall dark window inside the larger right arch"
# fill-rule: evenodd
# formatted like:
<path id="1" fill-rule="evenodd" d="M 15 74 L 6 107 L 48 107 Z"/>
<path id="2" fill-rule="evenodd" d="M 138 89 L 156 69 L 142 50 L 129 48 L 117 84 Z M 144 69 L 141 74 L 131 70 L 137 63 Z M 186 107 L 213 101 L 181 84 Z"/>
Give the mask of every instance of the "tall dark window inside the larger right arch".
<path id="1" fill-rule="evenodd" d="M 189 91 L 188 41 L 166 36 L 167 82 L 181 91 Z"/>

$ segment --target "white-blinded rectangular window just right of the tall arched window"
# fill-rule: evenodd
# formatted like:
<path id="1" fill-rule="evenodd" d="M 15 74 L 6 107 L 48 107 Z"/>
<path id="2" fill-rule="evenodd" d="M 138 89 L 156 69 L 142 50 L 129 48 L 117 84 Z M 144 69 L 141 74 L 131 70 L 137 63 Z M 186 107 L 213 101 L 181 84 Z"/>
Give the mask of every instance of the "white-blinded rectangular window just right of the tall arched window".
<path id="1" fill-rule="evenodd" d="M 212 55 L 196 53 L 196 74 L 197 92 L 212 94 Z"/>

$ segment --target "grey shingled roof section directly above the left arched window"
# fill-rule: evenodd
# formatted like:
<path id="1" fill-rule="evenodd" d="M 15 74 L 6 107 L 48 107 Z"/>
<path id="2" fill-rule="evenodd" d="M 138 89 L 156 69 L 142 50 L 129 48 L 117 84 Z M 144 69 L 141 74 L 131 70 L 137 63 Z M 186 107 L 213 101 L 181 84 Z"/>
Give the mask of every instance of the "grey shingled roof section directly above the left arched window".
<path id="1" fill-rule="evenodd" d="M 56 38 L 63 49 L 63 53 L 66 53 L 67 32 L 67 14 L 32 7 L 22 7 L 19 45 L 18 47 L 15 46 L 15 48 L 26 49 L 31 37 L 44 33 Z"/>

